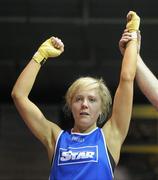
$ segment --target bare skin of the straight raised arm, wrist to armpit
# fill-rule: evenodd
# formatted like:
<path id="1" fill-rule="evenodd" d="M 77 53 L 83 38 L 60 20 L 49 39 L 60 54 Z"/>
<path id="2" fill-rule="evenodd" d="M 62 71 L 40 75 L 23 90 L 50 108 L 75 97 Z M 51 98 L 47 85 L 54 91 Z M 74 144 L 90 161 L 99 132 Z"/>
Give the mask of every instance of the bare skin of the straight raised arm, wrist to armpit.
<path id="1" fill-rule="evenodd" d="M 120 142 L 123 143 L 130 124 L 133 104 L 133 83 L 137 65 L 137 41 L 131 40 L 123 57 L 119 86 L 115 93 L 112 121 L 120 133 Z"/>

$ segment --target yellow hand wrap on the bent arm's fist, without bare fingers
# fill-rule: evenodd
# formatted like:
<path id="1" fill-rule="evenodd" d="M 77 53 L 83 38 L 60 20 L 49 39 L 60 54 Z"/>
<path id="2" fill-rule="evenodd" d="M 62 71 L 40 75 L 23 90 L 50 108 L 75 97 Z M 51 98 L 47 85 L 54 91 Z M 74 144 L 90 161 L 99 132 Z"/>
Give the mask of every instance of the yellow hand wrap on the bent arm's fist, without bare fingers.
<path id="1" fill-rule="evenodd" d="M 44 43 L 42 43 L 37 52 L 34 54 L 33 59 L 37 63 L 42 65 L 45 63 L 47 58 L 57 57 L 62 53 L 60 49 L 57 49 L 53 46 L 52 41 L 52 38 L 47 39 Z"/>

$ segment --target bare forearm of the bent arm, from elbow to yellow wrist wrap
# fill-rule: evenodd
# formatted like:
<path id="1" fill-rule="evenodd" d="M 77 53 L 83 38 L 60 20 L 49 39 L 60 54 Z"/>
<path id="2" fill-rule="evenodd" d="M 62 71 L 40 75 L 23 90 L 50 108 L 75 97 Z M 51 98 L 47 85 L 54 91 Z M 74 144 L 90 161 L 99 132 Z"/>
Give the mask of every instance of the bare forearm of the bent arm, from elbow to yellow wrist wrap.
<path id="1" fill-rule="evenodd" d="M 41 65 L 35 62 L 33 59 L 27 64 L 13 87 L 13 98 L 28 97 L 40 67 Z"/>

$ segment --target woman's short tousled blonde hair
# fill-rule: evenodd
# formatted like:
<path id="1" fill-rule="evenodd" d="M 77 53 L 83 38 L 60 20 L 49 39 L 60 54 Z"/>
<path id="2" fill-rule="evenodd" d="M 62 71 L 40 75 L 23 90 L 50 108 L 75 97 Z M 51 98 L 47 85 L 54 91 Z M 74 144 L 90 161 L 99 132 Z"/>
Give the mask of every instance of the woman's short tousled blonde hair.
<path id="1" fill-rule="evenodd" d="M 78 90 L 90 90 L 96 89 L 98 90 L 100 99 L 101 99 L 101 111 L 102 115 L 107 118 L 111 111 L 112 98 L 109 89 L 107 88 L 105 82 L 102 78 L 93 78 L 93 77 L 80 77 L 78 78 L 67 90 L 65 95 L 66 100 L 66 108 L 71 111 L 71 103 L 72 99 Z M 101 118 L 99 118 L 101 119 Z M 101 120 L 102 121 L 102 120 Z"/>

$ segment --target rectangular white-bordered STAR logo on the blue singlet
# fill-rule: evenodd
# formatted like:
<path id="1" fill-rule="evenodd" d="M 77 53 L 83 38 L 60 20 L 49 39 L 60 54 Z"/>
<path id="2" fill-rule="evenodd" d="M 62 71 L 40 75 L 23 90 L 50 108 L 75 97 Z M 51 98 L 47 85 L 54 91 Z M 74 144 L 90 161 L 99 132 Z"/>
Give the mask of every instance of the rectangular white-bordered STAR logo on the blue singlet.
<path id="1" fill-rule="evenodd" d="M 98 162 L 98 146 L 59 149 L 58 165 Z"/>

